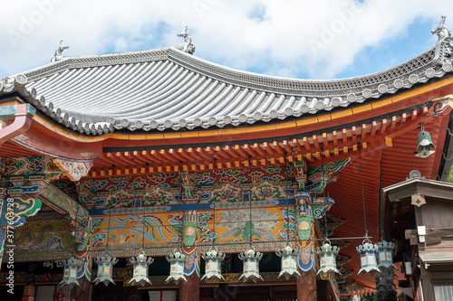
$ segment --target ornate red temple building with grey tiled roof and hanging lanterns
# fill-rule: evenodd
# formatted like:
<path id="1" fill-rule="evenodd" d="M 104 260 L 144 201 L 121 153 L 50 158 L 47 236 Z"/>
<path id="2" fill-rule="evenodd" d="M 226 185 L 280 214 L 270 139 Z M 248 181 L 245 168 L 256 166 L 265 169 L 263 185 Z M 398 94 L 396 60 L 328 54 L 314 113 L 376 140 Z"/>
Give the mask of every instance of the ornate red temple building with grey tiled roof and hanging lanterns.
<path id="1" fill-rule="evenodd" d="M 451 300 L 445 17 L 433 34 L 344 80 L 204 61 L 187 27 L 140 52 L 61 42 L 0 80 L 0 299 Z"/>

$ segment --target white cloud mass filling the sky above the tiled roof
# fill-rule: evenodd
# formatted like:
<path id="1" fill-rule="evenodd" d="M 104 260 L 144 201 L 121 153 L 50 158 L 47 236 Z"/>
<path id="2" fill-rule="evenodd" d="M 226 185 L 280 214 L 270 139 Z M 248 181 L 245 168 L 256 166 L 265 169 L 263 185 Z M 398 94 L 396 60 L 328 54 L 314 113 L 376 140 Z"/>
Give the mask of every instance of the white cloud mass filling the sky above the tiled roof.
<path id="1" fill-rule="evenodd" d="M 453 6 L 444 0 L 8 1 L 0 11 L 0 77 L 47 63 L 61 39 L 70 45 L 64 55 L 128 52 L 176 45 L 188 25 L 198 57 L 332 78 L 367 47 L 404 36 L 416 18 L 434 28 L 441 14 L 453 24 Z"/>

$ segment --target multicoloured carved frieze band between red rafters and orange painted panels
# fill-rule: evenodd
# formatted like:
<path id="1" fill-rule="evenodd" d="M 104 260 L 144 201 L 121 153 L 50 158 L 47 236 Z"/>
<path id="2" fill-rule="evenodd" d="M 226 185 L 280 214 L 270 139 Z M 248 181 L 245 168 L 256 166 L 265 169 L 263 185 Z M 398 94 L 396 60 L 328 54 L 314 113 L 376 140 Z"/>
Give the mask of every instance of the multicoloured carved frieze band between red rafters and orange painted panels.
<path id="1" fill-rule="evenodd" d="M 288 171 L 290 174 L 291 172 Z M 184 183 L 182 182 L 184 179 Z M 251 172 L 227 170 L 207 173 L 151 174 L 70 181 L 55 186 L 78 198 L 88 208 L 137 208 L 178 203 L 275 201 L 286 198 L 284 171 L 280 166 L 256 168 Z M 251 190 L 250 190 L 250 187 Z"/>

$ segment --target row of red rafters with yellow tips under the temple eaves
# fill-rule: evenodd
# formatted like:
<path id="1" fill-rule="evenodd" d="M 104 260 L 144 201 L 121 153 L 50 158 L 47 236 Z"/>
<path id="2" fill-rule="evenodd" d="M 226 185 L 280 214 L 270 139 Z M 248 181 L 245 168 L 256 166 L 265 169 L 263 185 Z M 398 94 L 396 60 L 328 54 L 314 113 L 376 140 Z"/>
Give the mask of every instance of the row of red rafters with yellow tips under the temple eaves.
<path id="1" fill-rule="evenodd" d="M 214 158 L 217 158 L 217 168 L 228 169 L 228 168 L 245 168 L 246 161 L 249 156 L 253 158 L 253 165 L 282 165 L 284 164 L 284 153 L 288 155 L 294 155 L 293 151 L 296 150 L 296 157 L 299 160 L 306 159 L 306 161 L 319 165 L 321 164 L 322 158 L 324 163 L 331 161 L 340 160 L 351 156 L 358 155 L 358 142 L 360 141 L 363 147 L 371 145 L 371 150 L 379 151 L 380 149 L 390 147 L 387 145 L 388 139 L 400 137 L 404 133 L 412 130 L 413 128 L 419 127 L 419 122 L 424 121 L 429 123 L 432 118 L 429 118 L 429 114 L 418 114 L 418 112 L 412 112 L 406 115 L 405 122 L 403 116 L 395 116 L 391 118 L 391 124 L 393 127 L 387 127 L 388 121 L 386 119 L 382 121 L 372 121 L 371 124 L 362 124 L 361 132 L 357 136 L 357 129 L 355 130 L 356 141 L 345 137 L 348 131 L 354 133 L 353 128 L 342 129 L 342 139 L 338 139 L 337 132 L 322 133 L 318 136 L 323 136 L 322 144 L 319 143 L 318 136 L 313 136 L 313 143 L 310 143 L 307 137 L 301 139 L 293 139 L 293 145 L 287 140 L 282 142 L 275 141 L 272 144 L 269 143 L 255 143 L 251 145 L 236 145 L 236 146 L 215 146 L 200 148 L 197 150 L 192 148 L 177 150 L 158 150 L 151 152 L 132 152 L 124 154 L 111 154 L 109 157 L 101 159 L 102 165 L 107 162 L 115 163 L 116 165 L 132 165 L 131 168 L 139 168 L 142 162 L 146 161 L 150 163 L 150 166 L 154 167 L 155 172 L 172 171 L 178 168 L 177 165 L 182 161 L 188 171 L 201 171 L 208 170 L 209 166 L 212 165 Z M 398 122 L 397 122 L 398 121 Z M 378 127 L 381 128 L 378 131 Z M 369 132 L 367 132 L 369 128 Z M 336 135 L 335 135 L 336 134 Z M 329 136 L 332 136 L 329 139 Z M 335 139 L 336 137 L 336 139 Z M 403 141 L 403 137 L 401 138 Z M 336 140 L 336 145 L 335 141 Z M 317 146 L 316 147 L 316 142 Z M 283 145 L 283 146 L 282 146 Z M 303 147 L 301 147 L 303 146 Z M 324 147 L 323 155 L 321 146 Z M 326 147 L 327 146 L 327 147 Z M 335 146 L 335 147 L 333 147 Z M 299 151 L 297 151 L 297 147 Z M 308 150 L 307 150 L 308 149 Z M 394 150 L 398 152 L 397 149 Z M 146 155 L 143 155 L 146 154 Z M 136 160 L 131 160 L 136 156 Z M 152 160 L 151 160 L 152 159 Z M 200 164 L 203 162 L 203 164 Z M 95 170 L 100 170 L 98 167 L 94 167 Z M 104 171 L 104 174 L 106 172 Z M 99 176 L 99 173 L 98 173 Z"/>

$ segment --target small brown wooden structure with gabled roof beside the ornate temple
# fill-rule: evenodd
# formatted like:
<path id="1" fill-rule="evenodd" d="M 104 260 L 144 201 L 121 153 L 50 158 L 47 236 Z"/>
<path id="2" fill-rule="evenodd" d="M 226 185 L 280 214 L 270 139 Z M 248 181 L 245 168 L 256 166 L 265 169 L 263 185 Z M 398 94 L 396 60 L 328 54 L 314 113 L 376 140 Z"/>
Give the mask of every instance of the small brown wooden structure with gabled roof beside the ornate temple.
<path id="1" fill-rule="evenodd" d="M 382 192 L 383 227 L 387 240 L 396 242 L 396 258 L 404 262 L 405 285 L 410 287 L 403 291 L 416 300 L 451 300 L 453 183 L 412 171 L 406 181 Z"/>

